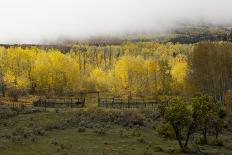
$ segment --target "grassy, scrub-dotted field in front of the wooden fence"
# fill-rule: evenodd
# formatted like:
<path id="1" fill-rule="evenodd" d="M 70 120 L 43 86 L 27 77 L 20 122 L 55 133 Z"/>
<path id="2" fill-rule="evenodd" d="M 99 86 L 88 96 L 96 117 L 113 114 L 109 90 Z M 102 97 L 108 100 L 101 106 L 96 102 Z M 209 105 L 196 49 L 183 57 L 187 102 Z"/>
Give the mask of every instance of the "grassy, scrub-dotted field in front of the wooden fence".
<path id="1" fill-rule="evenodd" d="M 184 154 L 175 139 L 157 133 L 159 115 L 149 111 L 81 109 L 26 109 L 2 118 L 1 155 Z M 196 145 L 195 154 L 232 154 L 232 132 L 224 146 Z"/>

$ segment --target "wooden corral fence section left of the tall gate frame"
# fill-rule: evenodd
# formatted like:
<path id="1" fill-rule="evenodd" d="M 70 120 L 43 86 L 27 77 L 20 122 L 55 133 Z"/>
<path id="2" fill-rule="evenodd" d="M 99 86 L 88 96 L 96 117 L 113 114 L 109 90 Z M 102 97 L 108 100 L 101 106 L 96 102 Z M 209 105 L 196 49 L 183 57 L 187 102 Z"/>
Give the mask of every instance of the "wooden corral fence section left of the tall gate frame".
<path id="1" fill-rule="evenodd" d="M 85 104 L 85 98 L 51 98 L 33 102 L 34 107 L 43 108 L 81 108 Z"/>

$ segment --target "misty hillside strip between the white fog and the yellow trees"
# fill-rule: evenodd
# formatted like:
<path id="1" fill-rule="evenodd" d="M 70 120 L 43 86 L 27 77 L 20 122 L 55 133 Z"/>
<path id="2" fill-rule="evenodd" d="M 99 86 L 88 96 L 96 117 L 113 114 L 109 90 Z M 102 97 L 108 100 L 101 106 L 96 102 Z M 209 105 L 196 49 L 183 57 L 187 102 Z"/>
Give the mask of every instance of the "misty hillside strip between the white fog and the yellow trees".
<path id="1" fill-rule="evenodd" d="M 58 49 L 63 52 L 68 52 L 75 44 L 88 45 L 120 45 L 123 42 L 147 42 L 156 41 L 161 43 L 172 42 L 181 44 L 192 44 L 201 41 L 231 41 L 232 27 L 231 26 L 193 26 L 184 25 L 179 28 L 170 30 L 169 32 L 153 34 L 126 34 L 126 35 L 109 35 L 109 36 L 95 36 L 83 40 L 70 40 L 62 38 L 54 42 L 47 42 L 44 44 L 0 44 L 4 47 L 32 47 L 36 46 L 41 49 Z"/>

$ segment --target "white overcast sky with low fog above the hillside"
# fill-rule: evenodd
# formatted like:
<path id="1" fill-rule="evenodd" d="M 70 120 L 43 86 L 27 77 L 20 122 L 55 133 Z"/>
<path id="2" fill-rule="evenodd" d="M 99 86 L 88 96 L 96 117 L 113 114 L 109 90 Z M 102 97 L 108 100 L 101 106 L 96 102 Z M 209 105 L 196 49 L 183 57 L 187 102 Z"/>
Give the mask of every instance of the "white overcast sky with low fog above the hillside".
<path id="1" fill-rule="evenodd" d="M 0 43 L 159 32 L 232 21 L 232 0 L 0 0 Z"/>

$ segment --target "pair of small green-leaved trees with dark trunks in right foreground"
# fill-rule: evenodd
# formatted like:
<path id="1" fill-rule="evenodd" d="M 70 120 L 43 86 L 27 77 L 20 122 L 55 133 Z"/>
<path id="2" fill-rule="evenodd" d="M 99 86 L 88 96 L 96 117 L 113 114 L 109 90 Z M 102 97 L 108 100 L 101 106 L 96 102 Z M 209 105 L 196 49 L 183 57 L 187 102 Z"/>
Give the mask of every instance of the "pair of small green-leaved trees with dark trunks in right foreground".
<path id="1" fill-rule="evenodd" d="M 218 139 L 225 117 L 221 107 L 222 105 L 212 97 L 197 94 L 188 101 L 178 97 L 172 98 L 167 104 L 159 107 L 159 112 L 175 131 L 180 148 L 185 150 L 193 133 L 201 132 L 205 143 L 208 143 L 210 131 L 214 132 L 215 138 Z"/>

